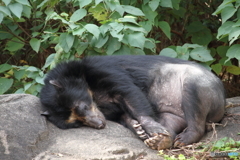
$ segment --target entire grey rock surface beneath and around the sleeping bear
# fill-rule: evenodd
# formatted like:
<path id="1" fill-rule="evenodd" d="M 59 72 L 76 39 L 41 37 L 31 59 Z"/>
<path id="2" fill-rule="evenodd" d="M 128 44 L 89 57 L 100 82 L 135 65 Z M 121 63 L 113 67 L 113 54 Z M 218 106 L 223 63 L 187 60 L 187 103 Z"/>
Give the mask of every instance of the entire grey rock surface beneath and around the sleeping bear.
<path id="1" fill-rule="evenodd" d="M 229 108 L 217 138 L 240 140 L 240 97 Z M 107 122 L 105 129 L 61 130 L 40 116 L 41 104 L 32 95 L 0 96 L 0 160 L 154 160 L 162 159 L 131 131 Z M 212 137 L 209 132 L 205 138 Z"/>

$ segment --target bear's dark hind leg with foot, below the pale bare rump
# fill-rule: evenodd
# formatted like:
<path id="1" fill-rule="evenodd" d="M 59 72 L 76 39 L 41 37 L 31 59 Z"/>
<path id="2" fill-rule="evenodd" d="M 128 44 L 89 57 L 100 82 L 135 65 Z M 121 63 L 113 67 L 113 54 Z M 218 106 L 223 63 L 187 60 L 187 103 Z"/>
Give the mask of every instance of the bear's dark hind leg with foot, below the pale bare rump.
<path id="1" fill-rule="evenodd" d="M 204 88 L 187 83 L 183 88 L 182 109 L 187 123 L 186 128 L 176 136 L 174 147 L 180 147 L 198 142 L 205 133 L 206 116 L 209 112 L 207 99 L 203 99 L 199 90 Z M 205 93 L 206 94 L 206 93 Z"/>

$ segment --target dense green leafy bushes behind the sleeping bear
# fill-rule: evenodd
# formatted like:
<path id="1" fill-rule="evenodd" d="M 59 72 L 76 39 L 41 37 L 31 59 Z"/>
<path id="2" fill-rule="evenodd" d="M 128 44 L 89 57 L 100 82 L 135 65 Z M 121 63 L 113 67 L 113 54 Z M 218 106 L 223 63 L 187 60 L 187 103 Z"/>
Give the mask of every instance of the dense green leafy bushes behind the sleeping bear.
<path id="1" fill-rule="evenodd" d="M 240 0 L 1 0 L 0 94 L 38 95 L 46 72 L 91 55 L 197 61 L 240 95 Z"/>

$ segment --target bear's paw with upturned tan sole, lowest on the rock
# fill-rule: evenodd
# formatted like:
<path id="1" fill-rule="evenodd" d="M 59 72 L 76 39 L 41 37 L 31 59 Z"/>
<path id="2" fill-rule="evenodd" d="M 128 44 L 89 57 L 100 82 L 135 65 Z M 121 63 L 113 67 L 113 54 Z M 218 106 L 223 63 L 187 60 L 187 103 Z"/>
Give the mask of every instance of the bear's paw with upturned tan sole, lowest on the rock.
<path id="1" fill-rule="evenodd" d="M 173 144 L 172 138 L 169 135 L 162 133 L 153 133 L 153 137 L 150 137 L 144 141 L 144 143 L 151 149 L 162 150 L 170 148 Z"/>

